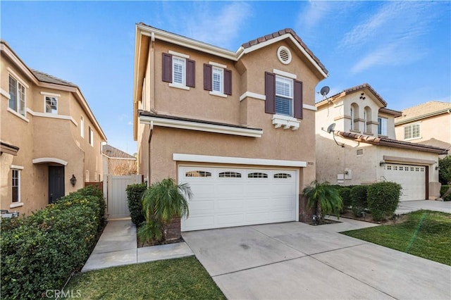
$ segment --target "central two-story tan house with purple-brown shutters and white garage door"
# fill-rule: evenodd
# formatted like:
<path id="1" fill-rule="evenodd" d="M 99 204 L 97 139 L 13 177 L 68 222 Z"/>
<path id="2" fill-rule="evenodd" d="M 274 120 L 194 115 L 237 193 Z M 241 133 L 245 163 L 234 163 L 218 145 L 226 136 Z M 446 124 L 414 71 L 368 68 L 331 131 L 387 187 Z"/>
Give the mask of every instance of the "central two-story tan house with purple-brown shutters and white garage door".
<path id="1" fill-rule="evenodd" d="M 314 95 L 327 74 L 290 29 L 228 51 L 137 24 L 138 173 L 190 184 L 182 231 L 311 218 L 299 194 L 315 179 Z"/>

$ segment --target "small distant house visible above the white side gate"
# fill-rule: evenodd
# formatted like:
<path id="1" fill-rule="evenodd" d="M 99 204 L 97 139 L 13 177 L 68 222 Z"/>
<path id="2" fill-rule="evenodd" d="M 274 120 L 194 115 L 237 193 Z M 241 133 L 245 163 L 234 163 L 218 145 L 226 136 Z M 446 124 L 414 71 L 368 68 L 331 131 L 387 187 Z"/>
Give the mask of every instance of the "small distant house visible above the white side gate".
<path id="1" fill-rule="evenodd" d="M 134 175 L 137 174 L 136 157 L 109 144 L 102 146 L 104 160 L 104 175 Z"/>

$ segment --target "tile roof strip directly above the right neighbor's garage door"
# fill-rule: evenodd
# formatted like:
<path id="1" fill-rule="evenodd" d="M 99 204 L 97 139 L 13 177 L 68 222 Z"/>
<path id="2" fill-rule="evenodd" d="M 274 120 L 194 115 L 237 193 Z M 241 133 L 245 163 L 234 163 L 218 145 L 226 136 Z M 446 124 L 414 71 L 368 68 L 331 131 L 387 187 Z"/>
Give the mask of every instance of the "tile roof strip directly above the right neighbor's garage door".
<path id="1" fill-rule="evenodd" d="M 358 133 L 352 132 L 342 132 L 338 131 L 337 135 L 345 137 L 347 139 L 354 139 L 358 142 L 363 142 L 367 144 L 373 144 L 378 146 L 389 146 L 395 148 L 404 148 L 404 149 L 412 149 L 426 152 L 433 152 L 436 154 L 446 154 L 447 151 L 444 148 L 426 145 L 426 144 L 417 144 L 412 142 L 404 142 L 397 139 L 388 139 L 386 137 L 372 137 L 369 135 L 359 135 Z"/>

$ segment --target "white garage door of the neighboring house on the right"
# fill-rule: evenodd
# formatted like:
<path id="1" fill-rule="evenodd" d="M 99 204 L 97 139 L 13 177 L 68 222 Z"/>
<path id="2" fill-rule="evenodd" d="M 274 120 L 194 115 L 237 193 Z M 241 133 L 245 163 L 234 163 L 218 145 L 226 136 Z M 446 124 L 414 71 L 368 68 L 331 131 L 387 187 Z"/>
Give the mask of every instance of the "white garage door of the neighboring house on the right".
<path id="1" fill-rule="evenodd" d="M 424 165 L 386 163 L 384 177 L 402 186 L 400 201 L 426 199 L 426 167 Z"/>

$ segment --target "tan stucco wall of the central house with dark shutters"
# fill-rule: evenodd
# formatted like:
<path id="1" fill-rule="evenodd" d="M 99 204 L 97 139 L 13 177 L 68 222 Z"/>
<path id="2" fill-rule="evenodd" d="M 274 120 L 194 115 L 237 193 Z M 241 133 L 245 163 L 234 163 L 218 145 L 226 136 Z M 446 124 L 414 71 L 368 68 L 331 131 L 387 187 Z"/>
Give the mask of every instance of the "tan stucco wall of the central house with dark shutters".
<path id="1" fill-rule="evenodd" d="M 279 46 L 291 49 L 292 63 L 284 65 L 278 61 L 276 50 Z M 187 54 L 196 63 L 196 87 L 189 91 L 169 87 L 161 80 L 162 55 L 168 51 Z M 146 111 L 162 115 L 176 115 L 185 118 L 210 120 L 233 125 L 246 125 L 261 128 L 262 137 L 240 137 L 194 130 L 177 130 L 150 125 L 138 125 L 138 173 L 149 178 L 149 183 L 166 177 L 177 178 L 178 163 L 173 161 L 173 154 L 199 154 L 206 156 L 233 156 L 242 158 L 266 158 L 273 160 L 305 161 L 306 168 L 300 170 L 299 188 L 302 189 L 315 179 L 315 135 L 314 111 L 304 109 L 304 118 L 299 130 L 275 128 L 271 118 L 265 113 L 265 101 L 247 97 L 240 101 L 245 92 L 264 95 L 264 73 L 273 69 L 283 70 L 297 75 L 303 82 L 304 104 L 314 106 L 314 91 L 319 78 L 314 75 L 302 59 L 297 56 L 297 49 L 291 42 L 278 42 L 243 56 L 240 61 L 229 61 L 199 51 L 192 51 L 166 42 L 156 41 L 154 55 L 149 50 L 145 75 L 145 105 L 139 104 Z M 154 60 L 154 64 L 152 64 Z M 223 98 L 213 96 L 204 90 L 204 63 L 213 61 L 226 65 L 232 70 L 232 95 Z M 264 61 L 264 63 L 261 63 Z M 152 70 L 154 76 L 149 72 Z M 154 78 L 154 83 L 148 82 Z M 142 85 L 143 82 L 139 82 Z M 154 85 L 154 91 L 151 89 Z M 154 101 L 152 100 L 154 99 Z M 154 102 L 154 103 L 153 103 Z M 149 147 L 149 139 L 150 147 Z M 150 161 L 149 161 L 150 159 Z M 192 164 L 192 163 L 191 163 Z M 149 168 L 150 165 L 150 168 Z M 261 166 L 260 166 L 261 167 Z M 266 166 L 264 168 L 280 168 Z"/>

